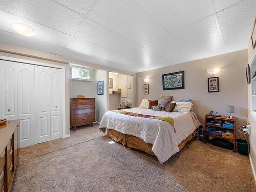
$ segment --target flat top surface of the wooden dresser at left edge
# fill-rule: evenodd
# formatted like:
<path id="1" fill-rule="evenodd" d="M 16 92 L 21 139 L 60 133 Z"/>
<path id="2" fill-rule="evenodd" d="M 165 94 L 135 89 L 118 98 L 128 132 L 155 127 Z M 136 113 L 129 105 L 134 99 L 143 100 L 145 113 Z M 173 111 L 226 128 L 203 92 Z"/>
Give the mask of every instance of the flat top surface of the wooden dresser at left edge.
<path id="1" fill-rule="evenodd" d="M 0 154 L 5 150 L 18 124 L 19 119 L 7 121 L 6 124 L 0 124 Z"/>

